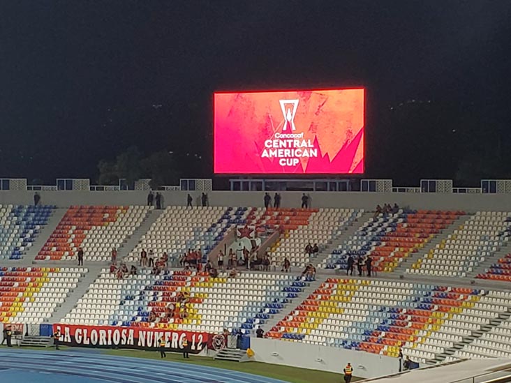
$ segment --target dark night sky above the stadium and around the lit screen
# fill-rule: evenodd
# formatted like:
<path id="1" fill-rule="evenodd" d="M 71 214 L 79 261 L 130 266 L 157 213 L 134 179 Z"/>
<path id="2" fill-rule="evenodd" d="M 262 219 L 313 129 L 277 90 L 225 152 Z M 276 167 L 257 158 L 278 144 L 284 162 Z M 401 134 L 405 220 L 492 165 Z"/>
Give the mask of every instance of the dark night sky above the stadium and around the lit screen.
<path id="1" fill-rule="evenodd" d="M 368 172 L 392 177 L 375 165 L 390 105 L 475 103 L 510 127 L 509 20 L 509 0 L 3 0 L 0 177 L 95 178 L 133 144 L 199 153 L 189 175 L 210 176 L 214 90 L 350 85 Z"/>

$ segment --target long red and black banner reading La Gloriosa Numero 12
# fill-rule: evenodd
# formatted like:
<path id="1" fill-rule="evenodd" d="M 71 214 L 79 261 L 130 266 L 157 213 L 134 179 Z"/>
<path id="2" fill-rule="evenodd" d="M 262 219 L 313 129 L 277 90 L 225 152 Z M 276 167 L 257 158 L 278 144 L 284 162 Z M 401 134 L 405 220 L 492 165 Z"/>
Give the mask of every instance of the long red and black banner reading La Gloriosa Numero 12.
<path id="1" fill-rule="evenodd" d="M 60 330 L 60 343 L 74 347 L 129 348 L 137 350 L 159 350 L 160 339 L 166 340 L 165 351 L 198 354 L 204 350 L 211 334 L 190 331 L 145 329 L 142 327 L 82 326 L 54 324 L 53 331 Z"/>

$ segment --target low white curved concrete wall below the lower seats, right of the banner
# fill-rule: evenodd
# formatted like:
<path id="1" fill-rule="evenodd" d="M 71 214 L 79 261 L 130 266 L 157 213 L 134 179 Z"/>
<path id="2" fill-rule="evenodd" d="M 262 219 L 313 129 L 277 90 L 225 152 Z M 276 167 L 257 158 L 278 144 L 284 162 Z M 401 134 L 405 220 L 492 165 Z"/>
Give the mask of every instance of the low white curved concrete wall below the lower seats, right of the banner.
<path id="1" fill-rule="evenodd" d="M 399 372 L 398 359 L 369 352 L 260 338 L 251 339 L 251 349 L 255 361 L 264 363 L 342 373 L 349 362 L 353 375 L 365 378 Z"/>

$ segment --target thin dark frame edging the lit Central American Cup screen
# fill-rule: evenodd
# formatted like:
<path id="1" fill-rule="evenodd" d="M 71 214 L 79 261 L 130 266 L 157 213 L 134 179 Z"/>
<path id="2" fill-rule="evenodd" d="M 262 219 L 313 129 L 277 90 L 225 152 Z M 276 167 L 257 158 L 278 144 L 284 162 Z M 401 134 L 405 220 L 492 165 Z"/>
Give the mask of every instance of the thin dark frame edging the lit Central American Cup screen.
<path id="1" fill-rule="evenodd" d="M 216 144 L 216 123 L 215 123 L 215 96 L 216 94 L 230 94 L 230 93 L 282 93 L 282 92 L 302 92 L 302 91 L 348 91 L 348 90 L 362 90 L 364 91 L 364 115 L 362 116 L 363 126 L 364 126 L 364 137 L 363 137 L 363 144 L 364 149 L 362 151 L 364 155 L 364 165 L 362 167 L 362 172 L 360 173 L 338 173 L 338 172 L 325 172 L 325 173 L 272 173 L 272 172 L 216 172 L 215 166 L 215 144 Z M 367 114 L 367 88 L 366 87 L 360 87 L 360 86 L 353 86 L 353 87 L 321 87 L 318 89 L 271 89 L 271 90 L 264 90 L 264 89 L 257 89 L 257 90 L 222 90 L 222 91 L 214 91 L 212 95 L 212 104 L 213 104 L 213 175 L 215 177 L 232 177 L 232 176 L 246 176 L 246 177 L 252 177 L 256 176 L 260 179 L 264 179 L 265 177 L 281 177 L 281 178 L 289 178 L 289 179 L 313 179 L 317 177 L 338 177 L 342 176 L 344 178 L 346 177 L 364 177 L 366 173 L 366 114 Z"/>

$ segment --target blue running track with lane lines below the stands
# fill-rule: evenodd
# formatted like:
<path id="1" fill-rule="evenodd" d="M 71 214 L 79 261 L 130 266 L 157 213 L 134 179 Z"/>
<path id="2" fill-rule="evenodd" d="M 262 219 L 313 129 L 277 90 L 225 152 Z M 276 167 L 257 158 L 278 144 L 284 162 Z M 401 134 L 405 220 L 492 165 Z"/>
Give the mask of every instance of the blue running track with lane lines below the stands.
<path id="1" fill-rule="evenodd" d="M 0 360 L 1 383 L 285 383 L 234 370 L 95 352 L 3 349 Z"/>

